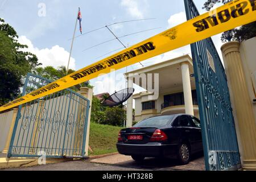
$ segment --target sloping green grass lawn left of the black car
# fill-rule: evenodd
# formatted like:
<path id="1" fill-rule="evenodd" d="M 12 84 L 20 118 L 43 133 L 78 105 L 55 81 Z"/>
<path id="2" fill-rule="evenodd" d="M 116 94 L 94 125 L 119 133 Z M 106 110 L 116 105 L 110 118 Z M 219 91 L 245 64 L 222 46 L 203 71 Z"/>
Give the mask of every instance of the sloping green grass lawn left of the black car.
<path id="1" fill-rule="evenodd" d="M 89 146 L 93 152 L 89 151 L 89 156 L 117 152 L 115 144 L 121 129 L 122 127 L 90 123 Z"/>

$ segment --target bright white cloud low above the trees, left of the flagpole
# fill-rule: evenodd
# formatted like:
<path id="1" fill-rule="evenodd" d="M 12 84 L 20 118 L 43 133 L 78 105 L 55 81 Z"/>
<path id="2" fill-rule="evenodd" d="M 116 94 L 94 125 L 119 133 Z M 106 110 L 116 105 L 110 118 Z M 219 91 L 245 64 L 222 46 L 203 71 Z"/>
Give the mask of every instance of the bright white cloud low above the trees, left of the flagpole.
<path id="1" fill-rule="evenodd" d="M 34 47 L 32 42 L 27 39 L 26 36 L 20 36 L 18 41 L 20 44 L 26 44 L 28 46 L 26 51 L 34 53 L 38 57 L 39 63 L 43 64 L 43 67 L 52 66 L 57 68 L 63 65 L 68 65 L 69 52 L 65 51 L 63 47 L 56 45 L 50 49 L 39 49 Z M 69 68 L 75 69 L 75 59 L 73 57 L 71 57 Z"/>

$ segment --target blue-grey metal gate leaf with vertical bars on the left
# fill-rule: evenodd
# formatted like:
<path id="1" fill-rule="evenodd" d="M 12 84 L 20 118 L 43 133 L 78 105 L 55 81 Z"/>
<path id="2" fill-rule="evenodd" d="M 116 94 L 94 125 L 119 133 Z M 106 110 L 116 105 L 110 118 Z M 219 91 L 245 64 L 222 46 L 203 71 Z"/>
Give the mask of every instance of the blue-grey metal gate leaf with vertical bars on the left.
<path id="1" fill-rule="evenodd" d="M 28 73 L 22 96 L 51 82 Z M 89 107 L 70 89 L 20 105 L 8 157 L 84 157 Z"/>

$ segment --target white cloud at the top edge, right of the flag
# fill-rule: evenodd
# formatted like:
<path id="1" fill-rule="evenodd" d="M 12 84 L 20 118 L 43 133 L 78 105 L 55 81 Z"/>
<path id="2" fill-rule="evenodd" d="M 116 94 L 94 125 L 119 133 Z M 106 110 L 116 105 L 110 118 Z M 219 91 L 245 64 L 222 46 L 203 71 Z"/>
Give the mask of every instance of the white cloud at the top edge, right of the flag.
<path id="1" fill-rule="evenodd" d="M 144 4 L 146 4 L 147 2 L 146 1 L 141 1 L 143 2 Z M 133 18 L 143 18 L 144 15 L 143 15 L 143 10 L 139 9 L 139 7 L 142 7 L 142 6 L 139 6 L 139 1 L 136 1 L 136 0 L 122 0 L 121 1 L 121 6 L 125 7 L 127 12 L 133 16 Z M 145 7 L 145 6 L 143 6 Z"/>

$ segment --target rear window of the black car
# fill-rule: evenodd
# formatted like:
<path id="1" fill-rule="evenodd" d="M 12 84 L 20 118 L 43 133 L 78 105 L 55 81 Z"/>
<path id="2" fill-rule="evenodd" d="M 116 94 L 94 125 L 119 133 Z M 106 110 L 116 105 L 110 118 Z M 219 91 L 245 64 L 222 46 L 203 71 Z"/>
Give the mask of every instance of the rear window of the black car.
<path id="1" fill-rule="evenodd" d="M 161 115 L 142 120 L 134 125 L 134 127 L 150 127 L 150 126 L 166 126 L 174 118 L 174 115 Z"/>

